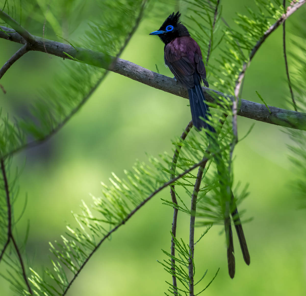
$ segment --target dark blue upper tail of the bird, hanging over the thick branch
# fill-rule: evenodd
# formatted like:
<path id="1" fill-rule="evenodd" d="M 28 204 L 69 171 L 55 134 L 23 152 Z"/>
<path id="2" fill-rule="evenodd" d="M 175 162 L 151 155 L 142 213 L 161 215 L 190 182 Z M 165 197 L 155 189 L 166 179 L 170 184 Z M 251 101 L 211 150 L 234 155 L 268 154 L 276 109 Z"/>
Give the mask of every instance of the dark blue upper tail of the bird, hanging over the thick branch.
<path id="1" fill-rule="evenodd" d="M 198 130 L 206 128 L 211 132 L 215 132 L 215 129 L 210 124 L 199 118 L 203 117 L 205 120 L 208 120 L 207 116 L 210 114 L 200 83 L 188 89 L 188 95 L 193 126 Z"/>

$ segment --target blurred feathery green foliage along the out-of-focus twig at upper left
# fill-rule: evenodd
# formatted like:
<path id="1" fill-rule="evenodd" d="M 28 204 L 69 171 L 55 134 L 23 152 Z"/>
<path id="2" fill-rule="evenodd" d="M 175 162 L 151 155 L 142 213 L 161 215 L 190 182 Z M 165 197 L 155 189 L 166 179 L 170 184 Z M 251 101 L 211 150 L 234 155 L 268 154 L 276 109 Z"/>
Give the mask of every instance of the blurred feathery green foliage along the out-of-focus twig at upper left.
<path id="1" fill-rule="evenodd" d="M 63 3 L 64 6 L 65 3 Z M 47 6 L 47 2 L 43 0 L 40 0 L 38 4 L 40 7 Z M 121 52 L 122 46 L 125 46 L 125 40 L 132 31 L 141 4 L 140 0 L 103 2 L 103 9 L 100 8 L 103 13 L 101 13 L 99 20 L 92 20 L 84 37 L 72 43 L 104 53 L 105 63 L 110 65 L 112 61 L 108 60 L 108 56 L 116 56 Z M 28 8 L 27 5 L 30 4 L 23 5 Z M 115 16 L 110 13 L 114 9 L 118 12 Z M 53 20 L 53 15 L 61 16 L 61 14 L 52 13 L 49 9 L 43 11 L 48 20 L 49 18 Z M 54 20 L 52 28 L 59 30 L 59 25 L 55 25 L 55 23 L 58 21 Z M 55 32 L 62 35 L 62 31 Z M 30 117 L 17 120 L 15 124 L 10 123 L 8 119 L 3 119 L 5 121 L 1 132 L 3 136 L 0 138 L 0 143 L 3 144 L 0 147 L 0 157 L 41 142 L 56 133 L 88 100 L 106 73 L 107 71 L 104 69 L 84 63 L 69 60 L 63 62 L 54 78 L 53 83 L 56 87 L 52 85 L 52 87 L 39 88 L 38 98 L 30 107 Z M 32 141 L 27 142 L 28 138 Z M 9 139 L 9 145 L 6 144 L 6 139 Z"/>

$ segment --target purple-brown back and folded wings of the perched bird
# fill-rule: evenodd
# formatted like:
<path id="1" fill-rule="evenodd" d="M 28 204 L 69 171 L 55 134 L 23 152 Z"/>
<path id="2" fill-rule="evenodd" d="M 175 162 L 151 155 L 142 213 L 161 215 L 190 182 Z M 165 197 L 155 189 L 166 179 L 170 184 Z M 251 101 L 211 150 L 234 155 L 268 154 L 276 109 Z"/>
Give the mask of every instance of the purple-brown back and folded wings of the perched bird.
<path id="1" fill-rule="evenodd" d="M 165 45 L 164 52 L 166 65 L 182 86 L 190 89 L 202 79 L 208 87 L 202 53 L 195 40 L 189 36 L 177 37 Z"/>

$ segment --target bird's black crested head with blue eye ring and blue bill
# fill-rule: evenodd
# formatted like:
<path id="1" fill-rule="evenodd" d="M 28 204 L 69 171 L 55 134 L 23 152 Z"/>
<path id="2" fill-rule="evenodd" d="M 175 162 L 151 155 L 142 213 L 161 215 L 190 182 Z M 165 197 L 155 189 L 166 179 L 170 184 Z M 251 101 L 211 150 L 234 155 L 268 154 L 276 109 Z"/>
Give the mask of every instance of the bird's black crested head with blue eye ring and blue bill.
<path id="1" fill-rule="evenodd" d="M 149 35 L 159 35 L 163 43 L 168 44 L 177 37 L 190 36 L 187 28 L 180 21 L 181 13 L 172 13 L 166 18 L 158 31 Z"/>

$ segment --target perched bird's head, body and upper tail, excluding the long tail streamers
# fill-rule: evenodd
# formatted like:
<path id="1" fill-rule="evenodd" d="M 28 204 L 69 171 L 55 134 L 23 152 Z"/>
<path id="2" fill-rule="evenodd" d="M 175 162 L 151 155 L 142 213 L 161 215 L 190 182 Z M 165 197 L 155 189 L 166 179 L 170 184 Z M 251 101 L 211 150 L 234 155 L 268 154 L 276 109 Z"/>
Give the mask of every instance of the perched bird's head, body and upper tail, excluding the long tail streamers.
<path id="1" fill-rule="evenodd" d="M 209 87 L 200 46 L 190 37 L 188 29 L 180 21 L 179 12 L 166 18 L 158 31 L 149 35 L 158 35 L 165 43 L 164 60 L 179 84 L 188 91 L 192 123 L 198 130 L 206 128 L 215 132 L 209 124 L 209 107 L 201 87 L 201 81 Z M 203 117 L 201 119 L 200 117 Z"/>

